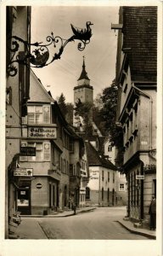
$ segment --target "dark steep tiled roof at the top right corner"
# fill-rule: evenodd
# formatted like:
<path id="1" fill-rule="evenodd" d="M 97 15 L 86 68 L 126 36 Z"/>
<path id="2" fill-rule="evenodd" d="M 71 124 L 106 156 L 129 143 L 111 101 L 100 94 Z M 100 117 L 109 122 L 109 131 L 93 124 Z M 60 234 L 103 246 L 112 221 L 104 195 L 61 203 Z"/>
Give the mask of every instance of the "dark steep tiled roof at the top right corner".
<path id="1" fill-rule="evenodd" d="M 123 49 L 128 52 L 132 80 L 156 81 L 157 7 L 123 7 Z"/>

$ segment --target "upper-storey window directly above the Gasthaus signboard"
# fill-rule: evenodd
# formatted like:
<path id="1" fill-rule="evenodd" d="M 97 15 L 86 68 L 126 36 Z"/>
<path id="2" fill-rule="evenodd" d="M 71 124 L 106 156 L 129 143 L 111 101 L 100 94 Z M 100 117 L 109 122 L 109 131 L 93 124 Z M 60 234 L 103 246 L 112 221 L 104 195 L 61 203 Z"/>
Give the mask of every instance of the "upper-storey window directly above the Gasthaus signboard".
<path id="1" fill-rule="evenodd" d="M 50 106 L 28 106 L 28 124 L 49 124 Z"/>

